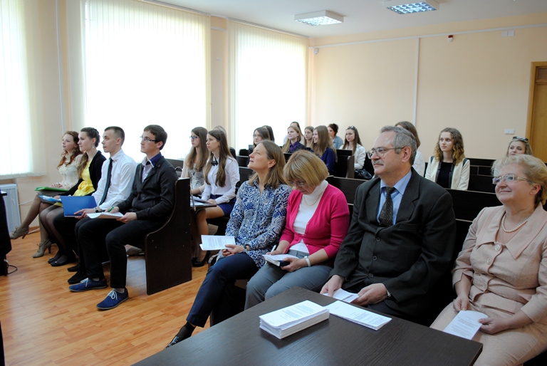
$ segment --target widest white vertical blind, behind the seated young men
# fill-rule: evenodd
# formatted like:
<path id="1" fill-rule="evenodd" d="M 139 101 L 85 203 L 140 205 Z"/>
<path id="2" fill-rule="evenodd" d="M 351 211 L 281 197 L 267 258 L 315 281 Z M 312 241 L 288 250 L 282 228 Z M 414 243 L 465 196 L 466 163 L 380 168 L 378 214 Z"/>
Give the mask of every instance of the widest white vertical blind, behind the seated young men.
<path id="1" fill-rule="evenodd" d="M 162 154 L 184 157 L 190 130 L 209 123 L 209 16 L 136 0 L 67 2 L 73 126 L 122 127 L 123 150 L 140 161 L 143 128 L 161 125 Z"/>

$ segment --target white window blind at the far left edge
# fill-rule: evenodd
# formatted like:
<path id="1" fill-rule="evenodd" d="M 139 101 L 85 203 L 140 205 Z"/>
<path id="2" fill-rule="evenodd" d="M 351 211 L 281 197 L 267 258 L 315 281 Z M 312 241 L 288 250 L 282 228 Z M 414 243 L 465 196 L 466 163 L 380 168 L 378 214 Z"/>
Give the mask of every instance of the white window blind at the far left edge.
<path id="1" fill-rule="evenodd" d="M 46 174 L 36 0 L 0 0 L 0 179 Z"/>

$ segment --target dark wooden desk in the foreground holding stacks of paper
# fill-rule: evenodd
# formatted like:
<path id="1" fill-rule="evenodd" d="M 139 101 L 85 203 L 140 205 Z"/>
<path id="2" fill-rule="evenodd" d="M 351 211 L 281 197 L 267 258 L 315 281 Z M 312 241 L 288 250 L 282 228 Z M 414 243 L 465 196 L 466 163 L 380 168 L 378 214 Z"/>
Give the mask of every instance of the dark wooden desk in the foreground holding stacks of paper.
<path id="1" fill-rule="evenodd" d="M 399 318 L 371 330 L 330 315 L 282 340 L 259 328 L 259 315 L 303 300 L 333 302 L 291 288 L 137 365 L 473 365 L 482 350 L 481 343 Z"/>

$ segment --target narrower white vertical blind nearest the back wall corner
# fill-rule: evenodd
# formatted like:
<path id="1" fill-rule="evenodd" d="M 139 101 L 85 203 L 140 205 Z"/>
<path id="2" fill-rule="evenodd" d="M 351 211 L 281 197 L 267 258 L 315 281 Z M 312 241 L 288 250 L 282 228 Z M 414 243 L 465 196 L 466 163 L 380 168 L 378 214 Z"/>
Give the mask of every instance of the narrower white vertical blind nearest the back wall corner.
<path id="1" fill-rule="evenodd" d="M 230 125 L 236 150 L 270 125 L 281 145 L 287 127 L 307 121 L 308 38 L 228 22 Z"/>

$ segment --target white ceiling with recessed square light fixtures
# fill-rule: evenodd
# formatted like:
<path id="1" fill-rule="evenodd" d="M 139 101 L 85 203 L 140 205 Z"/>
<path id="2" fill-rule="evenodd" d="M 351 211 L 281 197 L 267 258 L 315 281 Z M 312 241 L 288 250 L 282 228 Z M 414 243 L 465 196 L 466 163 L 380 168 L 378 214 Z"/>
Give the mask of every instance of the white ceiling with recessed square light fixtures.
<path id="1" fill-rule="evenodd" d="M 457 21 L 547 13 L 547 0 L 437 0 L 438 11 L 400 15 L 382 0 L 160 0 L 214 16 L 298 33 L 309 37 L 385 31 Z M 395 0 L 392 0 L 395 2 Z M 412 2 L 412 1 L 408 1 Z M 308 26 L 294 21 L 296 14 L 328 10 L 345 17 L 330 26 Z M 547 23 L 547 16 L 543 23 Z"/>

